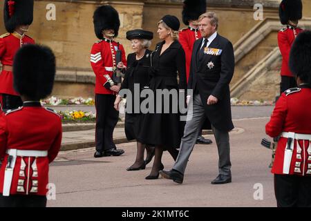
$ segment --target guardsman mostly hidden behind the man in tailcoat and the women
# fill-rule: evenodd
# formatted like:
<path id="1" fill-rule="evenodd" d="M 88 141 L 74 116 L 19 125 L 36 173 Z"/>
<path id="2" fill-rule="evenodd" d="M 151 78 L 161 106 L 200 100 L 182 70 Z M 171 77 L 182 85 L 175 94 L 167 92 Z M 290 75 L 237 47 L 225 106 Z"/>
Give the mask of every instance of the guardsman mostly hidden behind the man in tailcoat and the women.
<path id="1" fill-rule="evenodd" d="M 179 32 L 179 42 L 185 50 L 186 55 L 186 72 L 187 83 L 189 79 L 190 64 L 192 50 L 194 49 L 194 41 L 201 38 L 201 33 L 198 28 L 198 17 L 206 12 L 206 0 L 186 0 L 182 9 L 182 22 L 188 28 L 183 28 Z M 202 129 L 211 129 L 211 123 L 206 120 Z M 211 140 L 205 139 L 202 136 L 202 130 L 198 134 L 197 144 L 211 144 Z"/>

